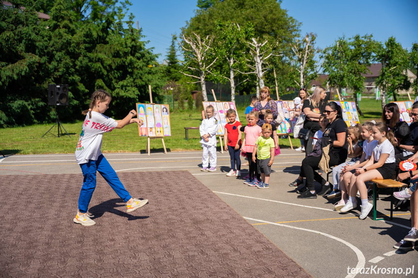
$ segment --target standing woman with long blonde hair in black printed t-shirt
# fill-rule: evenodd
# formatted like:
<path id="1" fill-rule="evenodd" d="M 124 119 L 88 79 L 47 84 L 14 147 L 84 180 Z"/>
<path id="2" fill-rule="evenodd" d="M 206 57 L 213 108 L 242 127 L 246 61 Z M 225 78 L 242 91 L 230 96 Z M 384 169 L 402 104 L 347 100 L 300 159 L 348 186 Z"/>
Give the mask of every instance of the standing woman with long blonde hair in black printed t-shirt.
<path id="1" fill-rule="evenodd" d="M 313 94 L 309 99 L 303 101 L 302 111 L 305 114 L 305 122 L 303 123 L 303 128 L 308 129 L 311 132 L 311 135 L 319 131 L 321 127 L 319 126 L 319 116 L 323 114 L 325 109 L 324 99 L 326 97 L 326 90 L 322 86 L 317 86 L 313 90 Z M 313 150 L 312 139 L 303 142 L 305 146 L 306 155 L 310 154 Z"/>

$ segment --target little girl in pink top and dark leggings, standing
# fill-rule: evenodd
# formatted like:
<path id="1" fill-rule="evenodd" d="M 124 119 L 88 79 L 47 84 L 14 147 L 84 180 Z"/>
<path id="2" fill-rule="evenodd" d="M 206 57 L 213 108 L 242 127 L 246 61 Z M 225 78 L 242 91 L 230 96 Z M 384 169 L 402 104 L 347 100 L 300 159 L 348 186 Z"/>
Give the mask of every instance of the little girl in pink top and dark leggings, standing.
<path id="1" fill-rule="evenodd" d="M 258 112 L 251 111 L 248 113 L 248 126 L 244 129 L 244 140 L 242 142 L 241 151 L 245 151 L 247 153 L 248 159 L 248 167 L 249 167 L 249 177 L 245 184 L 257 181 L 260 179 L 260 175 L 257 173 L 257 164 L 252 161 L 252 151 L 254 149 L 255 141 L 260 136 L 260 132 L 262 129 L 260 126 L 257 125 L 258 121 Z M 256 176 L 254 176 L 256 175 Z"/>

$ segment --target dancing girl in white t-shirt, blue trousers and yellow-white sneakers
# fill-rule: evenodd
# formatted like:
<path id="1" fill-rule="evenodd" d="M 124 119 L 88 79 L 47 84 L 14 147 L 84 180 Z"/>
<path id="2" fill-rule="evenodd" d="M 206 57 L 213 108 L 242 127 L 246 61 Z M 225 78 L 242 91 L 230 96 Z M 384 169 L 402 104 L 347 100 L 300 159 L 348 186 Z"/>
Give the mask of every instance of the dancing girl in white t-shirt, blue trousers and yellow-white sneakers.
<path id="1" fill-rule="evenodd" d="M 111 132 L 114 128 L 121 129 L 134 122 L 138 123 L 139 126 L 143 124 L 142 120 L 133 118 L 137 115 L 135 110 L 131 110 L 122 120 L 114 120 L 103 115 L 102 113 L 105 113 L 109 108 L 110 101 L 111 96 L 106 91 L 97 90 L 92 95 L 90 109 L 83 111 L 86 118 L 76 147 L 76 160 L 83 172 L 84 181 L 78 198 L 77 215 L 73 219 L 75 223 L 83 226 L 96 224 L 90 218 L 92 216 L 87 214 L 96 187 L 96 172 L 99 172 L 119 197 L 126 202 L 126 212 L 131 212 L 148 203 L 148 200 L 131 197 L 100 150 L 103 133 Z"/>

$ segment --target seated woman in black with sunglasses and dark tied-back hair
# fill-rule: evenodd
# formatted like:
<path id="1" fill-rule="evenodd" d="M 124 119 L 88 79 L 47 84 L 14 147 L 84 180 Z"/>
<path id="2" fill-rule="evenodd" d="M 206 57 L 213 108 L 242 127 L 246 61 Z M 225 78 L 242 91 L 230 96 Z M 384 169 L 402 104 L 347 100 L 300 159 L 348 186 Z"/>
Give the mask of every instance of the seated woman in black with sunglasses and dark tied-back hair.
<path id="1" fill-rule="evenodd" d="M 348 146 L 347 146 L 347 125 L 342 119 L 341 107 L 336 102 L 329 102 L 325 106 L 324 114 L 329 120 L 329 124 L 325 128 L 325 132 L 322 135 L 324 140 L 329 139 L 330 147 L 328 151 L 329 155 L 329 166 L 339 165 L 347 159 Z M 315 170 L 319 169 L 319 162 L 321 156 L 309 156 L 302 161 L 302 167 L 300 176 L 306 177 L 307 190 L 303 190 L 302 194 L 297 196 L 300 199 L 316 199 L 317 194 L 313 181 L 321 183 L 321 192 L 318 195 L 323 196 L 327 194 L 331 188 L 330 184 Z"/>

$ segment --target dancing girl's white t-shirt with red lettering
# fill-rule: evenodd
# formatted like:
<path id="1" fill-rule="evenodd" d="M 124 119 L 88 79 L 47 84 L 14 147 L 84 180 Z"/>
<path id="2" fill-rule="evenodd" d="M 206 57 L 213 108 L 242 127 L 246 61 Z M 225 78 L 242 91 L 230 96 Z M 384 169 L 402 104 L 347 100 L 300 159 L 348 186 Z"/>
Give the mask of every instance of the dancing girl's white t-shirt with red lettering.
<path id="1" fill-rule="evenodd" d="M 101 113 L 92 111 L 92 118 L 87 113 L 83 123 L 83 130 L 78 139 L 76 147 L 76 160 L 78 164 L 89 162 L 89 160 L 97 160 L 102 154 L 103 133 L 111 132 L 118 123 Z"/>

